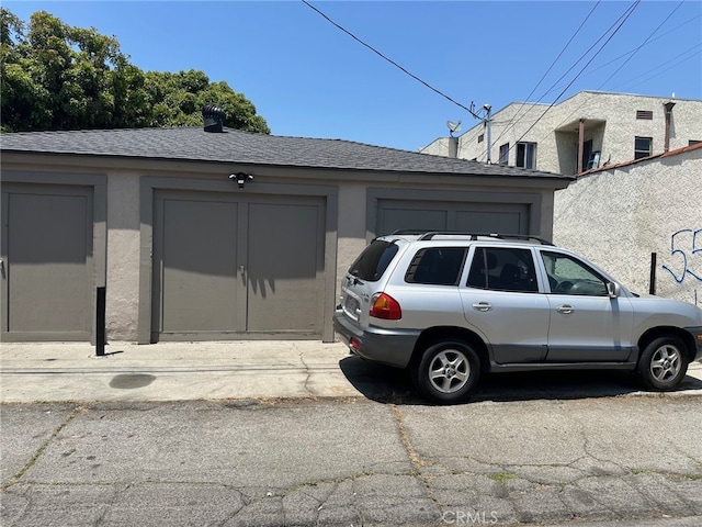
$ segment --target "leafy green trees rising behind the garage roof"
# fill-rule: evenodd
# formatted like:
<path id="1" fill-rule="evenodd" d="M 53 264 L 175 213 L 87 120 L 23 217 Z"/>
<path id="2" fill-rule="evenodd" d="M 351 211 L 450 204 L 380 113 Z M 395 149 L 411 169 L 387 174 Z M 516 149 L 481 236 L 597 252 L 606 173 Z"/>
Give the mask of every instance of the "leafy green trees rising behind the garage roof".
<path id="1" fill-rule="evenodd" d="M 71 27 L 46 11 L 29 27 L 0 8 L 2 131 L 194 126 L 204 105 L 225 126 L 269 134 L 265 120 L 227 82 L 203 71 L 141 71 L 114 37 Z"/>

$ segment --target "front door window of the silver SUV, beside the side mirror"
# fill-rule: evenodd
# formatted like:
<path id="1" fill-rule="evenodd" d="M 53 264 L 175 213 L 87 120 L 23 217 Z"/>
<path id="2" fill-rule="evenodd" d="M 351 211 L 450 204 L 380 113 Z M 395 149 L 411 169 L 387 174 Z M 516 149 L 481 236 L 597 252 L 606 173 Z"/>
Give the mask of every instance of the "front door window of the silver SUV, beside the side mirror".
<path id="1" fill-rule="evenodd" d="M 607 296 L 607 283 L 584 262 L 568 255 L 542 251 L 551 291 L 559 294 Z"/>

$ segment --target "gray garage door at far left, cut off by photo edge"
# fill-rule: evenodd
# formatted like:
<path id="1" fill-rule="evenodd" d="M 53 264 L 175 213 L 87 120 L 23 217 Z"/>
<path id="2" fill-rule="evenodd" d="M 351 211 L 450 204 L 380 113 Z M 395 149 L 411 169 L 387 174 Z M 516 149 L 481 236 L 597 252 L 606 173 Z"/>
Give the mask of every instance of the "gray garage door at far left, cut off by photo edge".
<path id="1" fill-rule="evenodd" d="M 89 340 L 92 191 L 4 184 L 2 338 Z"/>

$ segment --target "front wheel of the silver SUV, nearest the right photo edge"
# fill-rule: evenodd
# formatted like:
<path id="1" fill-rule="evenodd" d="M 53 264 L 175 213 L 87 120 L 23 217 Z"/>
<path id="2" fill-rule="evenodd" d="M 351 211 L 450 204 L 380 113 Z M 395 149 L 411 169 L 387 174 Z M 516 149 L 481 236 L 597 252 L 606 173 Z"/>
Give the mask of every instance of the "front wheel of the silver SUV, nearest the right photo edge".
<path id="1" fill-rule="evenodd" d="M 675 389 L 688 371 L 684 343 L 673 336 L 652 340 L 638 359 L 638 374 L 648 390 Z"/>

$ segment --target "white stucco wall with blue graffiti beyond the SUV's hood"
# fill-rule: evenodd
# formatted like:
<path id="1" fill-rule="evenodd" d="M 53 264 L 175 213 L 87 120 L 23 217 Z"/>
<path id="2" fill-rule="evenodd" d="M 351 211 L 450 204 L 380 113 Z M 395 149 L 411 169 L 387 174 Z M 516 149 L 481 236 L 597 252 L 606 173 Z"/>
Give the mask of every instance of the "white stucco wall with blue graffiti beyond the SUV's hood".
<path id="1" fill-rule="evenodd" d="M 702 305 L 702 147 L 584 176 L 555 194 L 554 242 L 637 293 Z M 695 237 L 697 236 L 697 237 Z"/>

